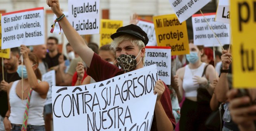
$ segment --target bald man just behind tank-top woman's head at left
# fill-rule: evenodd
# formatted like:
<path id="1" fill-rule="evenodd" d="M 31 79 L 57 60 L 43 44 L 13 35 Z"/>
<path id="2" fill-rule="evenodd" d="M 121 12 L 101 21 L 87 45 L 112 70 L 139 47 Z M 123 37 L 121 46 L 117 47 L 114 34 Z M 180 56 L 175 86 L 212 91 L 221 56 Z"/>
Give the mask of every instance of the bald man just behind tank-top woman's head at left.
<path id="1" fill-rule="evenodd" d="M 43 60 L 47 54 L 46 45 L 35 45 L 33 47 L 33 53 L 37 56 L 39 62 L 38 69 L 42 75 L 45 74 L 48 71 L 48 64 Z"/>

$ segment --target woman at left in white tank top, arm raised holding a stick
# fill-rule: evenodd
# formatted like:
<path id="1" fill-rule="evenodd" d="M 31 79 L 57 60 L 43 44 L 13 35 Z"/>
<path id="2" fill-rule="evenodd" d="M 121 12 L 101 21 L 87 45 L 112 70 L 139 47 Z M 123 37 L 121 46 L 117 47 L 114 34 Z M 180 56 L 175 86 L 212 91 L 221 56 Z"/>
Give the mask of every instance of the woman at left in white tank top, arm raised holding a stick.
<path id="1" fill-rule="evenodd" d="M 9 84 L 9 110 L 3 123 L 7 131 L 44 131 L 43 107 L 49 84 L 40 81 L 42 75 L 36 55 L 29 53 L 25 45 L 21 45 L 21 55 L 24 65 L 19 61 L 17 73 L 23 80 Z"/>

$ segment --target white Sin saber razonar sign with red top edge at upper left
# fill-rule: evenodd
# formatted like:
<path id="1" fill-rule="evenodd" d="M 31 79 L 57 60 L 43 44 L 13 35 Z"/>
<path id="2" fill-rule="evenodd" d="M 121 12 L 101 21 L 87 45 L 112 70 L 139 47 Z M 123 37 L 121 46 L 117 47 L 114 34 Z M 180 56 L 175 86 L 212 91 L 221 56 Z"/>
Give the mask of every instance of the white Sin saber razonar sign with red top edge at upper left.
<path id="1" fill-rule="evenodd" d="M 3 13 L 2 49 L 45 44 L 43 7 Z"/>

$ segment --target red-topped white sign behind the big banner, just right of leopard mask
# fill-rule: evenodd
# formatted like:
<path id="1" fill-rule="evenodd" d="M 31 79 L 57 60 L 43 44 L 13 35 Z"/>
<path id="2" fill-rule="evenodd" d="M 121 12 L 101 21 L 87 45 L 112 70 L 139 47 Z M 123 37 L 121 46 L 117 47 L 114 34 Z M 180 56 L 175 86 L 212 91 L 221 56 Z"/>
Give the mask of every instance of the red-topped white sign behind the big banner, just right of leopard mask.
<path id="1" fill-rule="evenodd" d="M 171 47 L 146 46 L 145 64 L 156 64 L 159 79 L 171 85 Z"/>

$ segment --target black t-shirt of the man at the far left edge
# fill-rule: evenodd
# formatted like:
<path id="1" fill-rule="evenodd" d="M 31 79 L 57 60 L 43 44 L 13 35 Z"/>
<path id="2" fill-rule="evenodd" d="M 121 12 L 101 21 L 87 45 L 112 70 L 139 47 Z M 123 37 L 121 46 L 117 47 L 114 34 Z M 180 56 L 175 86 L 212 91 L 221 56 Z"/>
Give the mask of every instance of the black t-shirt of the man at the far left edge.
<path id="1" fill-rule="evenodd" d="M 8 83 L 21 79 L 21 77 L 19 77 L 17 72 L 10 73 L 10 74 L 5 72 L 4 75 L 5 75 L 4 76 L 5 81 L 8 82 Z M 2 78 L 2 73 L 1 73 L 0 81 L 2 81 L 2 80 L 3 80 L 3 78 Z M 1 114 L 2 117 L 5 117 L 5 114 L 8 111 L 7 92 L 5 92 L 5 91 L 0 91 L 0 106 L 1 106 L 0 107 L 0 114 Z"/>

